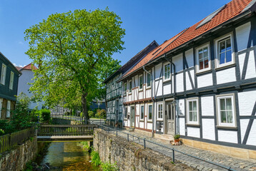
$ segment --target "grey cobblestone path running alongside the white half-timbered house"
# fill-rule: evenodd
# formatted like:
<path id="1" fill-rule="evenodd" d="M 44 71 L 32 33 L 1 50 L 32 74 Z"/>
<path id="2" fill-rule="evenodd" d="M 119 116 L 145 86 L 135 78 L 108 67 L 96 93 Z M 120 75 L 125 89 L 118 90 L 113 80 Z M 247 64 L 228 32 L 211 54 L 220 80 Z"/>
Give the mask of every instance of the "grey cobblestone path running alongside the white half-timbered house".
<path id="1" fill-rule="evenodd" d="M 117 129 L 117 128 L 115 128 Z M 119 129 L 121 130 L 121 129 Z M 122 133 L 118 133 L 118 136 L 122 136 L 123 138 L 127 138 L 127 134 L 124 133 L 129 133 L 128 130 L 121 130 Z M 114 133 L 116 134 L 115 131 L 110 131 L 109 133 Z M 224 165 L 226 167 L 231 167 L 233 170 L 256 170 L 256 160 L 242 160 L 236 157 L 230 157 L 227 155 L 221 155 L 216 152 L 210 152 L 207 150 L 201 150 L 197 149 L 195 147 L 189 147 L 187 145 L 179 145 L 179 146 L 174 146 L 170 145 L 167 142 L 162 142 L 161 140 L 157 138 L 151 138 L 147 134 L 143 133 L 137 133 L 137 132 L 132 132 L 129 133 L 129 140 L 137 142 L 141 145 L 144 145 L 144 138 L 147 140 L 151 140 L 152 142 L 157 142 L 161 145 L 166 145 L 168 147 L 172 147 L 176 150 L 179 150 L 181 152 L 185 152 L 188 155 L 194 155 L 196 157 L 200 157 L 203 160 L 208 160 L 210 162 L 215 162 L 220 165 Z M 132 137 L 131 135 L 137 136 L 138 138 Z M 152 150 L 161 152 L 163 155 L 167 155 L 169 157 L 172 157 L 172 150 L 169 150 L 165 147 L 161 147 L 159 145 L 154 145 L 153 143 L 146 142 L 146 147 L 151 148 Z M 217 171 L 217 170 L 225 170 L 222 167 L 218 167 L 216 165 L 212 165 L 208 162 L 204 162 L 202 160 L 195 159 L 194 157 L 189 157 L 187 155 L 183 155 L 179 152 L 174 152 L 175 155 L 175 160 L 179 160 L 180 162 L 183 162 L 186 165 L 189 165 L 190 167 L 195 167 L 198 170 L 212 170 L 212 171 Z"/>

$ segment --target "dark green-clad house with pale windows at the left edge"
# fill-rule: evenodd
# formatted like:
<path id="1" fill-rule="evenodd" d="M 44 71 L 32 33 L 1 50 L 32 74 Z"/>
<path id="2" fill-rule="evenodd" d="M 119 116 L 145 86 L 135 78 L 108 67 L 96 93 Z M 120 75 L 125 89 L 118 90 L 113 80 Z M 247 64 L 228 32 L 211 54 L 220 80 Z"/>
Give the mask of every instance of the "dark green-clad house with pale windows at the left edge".
<path id="1" fill-rule="evenodd" d="M 2 53 L 0 53 L 0 71 L 0 119 L 9 119 L 16 103 L 21 73 Z"/>

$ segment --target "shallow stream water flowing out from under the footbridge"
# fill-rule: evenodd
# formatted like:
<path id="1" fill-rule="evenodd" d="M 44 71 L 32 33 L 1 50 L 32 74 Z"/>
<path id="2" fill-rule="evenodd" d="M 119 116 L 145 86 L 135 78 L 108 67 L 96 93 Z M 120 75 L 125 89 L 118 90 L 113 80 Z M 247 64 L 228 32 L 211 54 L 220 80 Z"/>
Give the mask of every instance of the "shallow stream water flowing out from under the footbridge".
<path id="1" fill-rule="evenodd" d="M 89 152 L 79 142 L 51 142 L 41 164 L 49 162 L 55 167 L 51 170 L 99 170 L 89 160 Z"/>

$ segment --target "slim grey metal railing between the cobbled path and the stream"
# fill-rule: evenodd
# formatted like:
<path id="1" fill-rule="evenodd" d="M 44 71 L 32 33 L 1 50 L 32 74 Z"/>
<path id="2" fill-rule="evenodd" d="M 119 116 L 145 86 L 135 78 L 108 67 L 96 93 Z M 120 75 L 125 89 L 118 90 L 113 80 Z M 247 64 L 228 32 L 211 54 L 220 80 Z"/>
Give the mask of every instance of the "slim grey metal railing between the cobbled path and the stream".
<path id="1" fill-rule="evenodd" d="M 91 122 L 91 123 L 93 123 L 93 122 Z M 158 145 L 158 146 L 160 146 L 160 147 L 164 147 L 164 148 L 167 148 L 167 149 L 169 149 L 169 150 L 172 150 L 172 162 L 175 162 L 175 152 L 179 152 L 179 153 L 182 154 L 182 155 L 187 155 L 187 156 L 189 156 L 189 157 L 195 158 L 195 159 L 197 159 L 197 160 L 201 160 L 201 161 L 203 161 L 203 162 L 210 163 L 211 165 L 215 165 L 215 166 L 217 166 L 217 167 L 222 167 L 222 168 L 225 169 L 225 170 L 235 171 L 235 170 L 232 169 L 231 167 L 227 167 L 227 166 L 225 166 L 225 165 L 220 165 L 220 164 L 218 164 L 218 163 L 216 163 L 216 162 L 211 162 L 211 161 L 209 161 L 209 160 L 205 160 L 205 159 L 202 159 L 201 157 L 197 157 L 197 156 L 194 156 L 194 155 L 189 155 L 189 154 L 187 154 L 187 153 L 185 153 L 185 152 L 182 152 L 182 151 L 180 151 L 180 150 L 174 149 L 173 147 L 168 147 L 167 145 L 162 145 L 162 144 L 159 144 L 159 143 L 154 142 L 154 141 L 152 141 L 152 140 L 147 140 L 146 138 L 139 138 L 139 137 L 137 137 L 136 135 L 132 135 L 132 134 L 129 134 L 129 133 L 124 133 L 124 132 L 121 131 L 121 130 L 117 130 L 117 129 L 114 129 L 114 128 L 109 128 L 108 126 L 104 126 L 104 125 L 102 125 L 101 123 L 100 123 L 100 124 L 94 123 L 94 124 L 95 124 L 95 125 L 98 125 L 98 128 L 101 128 L 102 130 L 105 130 L 105 131 L 107 131 L 108 133 L 112 133 L 112 132 L 113 132 L 116 136 L 118 136 L 118 133 L 123 133 L 123 134 L 127 135 L 127 141 L 128 141 L 128 142 L 130 141 L 130 138 L 132 138 L 132 141 L 134 141 L 134 138 L 137 138 L 137 140 L 138 140 L 139 142 L 140 142 L 140 140 L 143 140 L 144 149 L 146 149 L 146 147 L 147 147 L 147 142 L 149 142 L 149 143 L 152 143 L 152 144 L 154 144 L 154 145 Z M 149 147 L 149 148 L 150 148 L 150 147 Z"/>

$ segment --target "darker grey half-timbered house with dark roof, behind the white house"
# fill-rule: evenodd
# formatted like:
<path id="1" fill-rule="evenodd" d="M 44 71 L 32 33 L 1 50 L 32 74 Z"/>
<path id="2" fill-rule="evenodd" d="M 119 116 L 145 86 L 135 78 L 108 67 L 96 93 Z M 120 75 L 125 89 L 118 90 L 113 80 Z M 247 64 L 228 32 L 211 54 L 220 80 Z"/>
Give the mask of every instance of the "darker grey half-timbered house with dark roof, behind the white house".
<path id="1" fill-rule="evenodd" d="M 144 58 L 152 49 L 158 46 L 156 41 L 152 41 L 147 47 L 142 49 L 136 56 L 132 57 L 127 63 L 109 76 L 104 83 L 106 83 L 107 95 L 106 95 L 106 104 L 107 104 L 107 123 L 111 125 L 123 125 L 123 87 L 122 82 L 119 81 L 122 78 L 122 75 L 136 65 L 139 61 Z"/>

